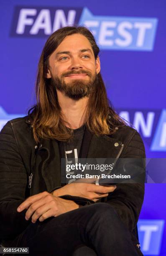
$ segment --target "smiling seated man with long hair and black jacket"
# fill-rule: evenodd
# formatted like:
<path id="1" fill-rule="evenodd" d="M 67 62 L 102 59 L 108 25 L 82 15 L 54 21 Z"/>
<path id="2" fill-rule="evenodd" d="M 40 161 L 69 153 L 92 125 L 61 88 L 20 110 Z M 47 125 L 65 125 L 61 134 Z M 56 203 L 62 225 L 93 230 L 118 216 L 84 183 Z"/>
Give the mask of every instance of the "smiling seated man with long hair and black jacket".
<path id="1" fill-rule="evenodd" d="M 47 40 L 37 104 L 0 133 L 0 238 L 30 255 L 142 255 L 134 235 L 143 184 L 61 184 L 61 158 L 145 158 L 140 135 L 111 108 L 99 48 L 84 27 Z M 94 255 L 94 254 L 93 254 Z"/>

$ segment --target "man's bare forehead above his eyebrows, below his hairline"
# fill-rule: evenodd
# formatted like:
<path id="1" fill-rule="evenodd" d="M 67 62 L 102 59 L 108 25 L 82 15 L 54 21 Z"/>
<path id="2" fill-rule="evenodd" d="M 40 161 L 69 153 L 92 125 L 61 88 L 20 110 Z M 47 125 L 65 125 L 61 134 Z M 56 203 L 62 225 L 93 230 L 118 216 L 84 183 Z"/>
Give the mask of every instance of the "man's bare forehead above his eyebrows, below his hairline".
<path id="1" fill-rule="evenodd" d="M 59 44 L 59 46 L 56 48 L 54 53 L 58 51 L 76 52 L 86 48 L 92 50 L 92 46 L 89 40 L 81 34 L 73 34 L 70 36 L 66 36 L 64 40 L 61 42 L 61 44 Z"/>

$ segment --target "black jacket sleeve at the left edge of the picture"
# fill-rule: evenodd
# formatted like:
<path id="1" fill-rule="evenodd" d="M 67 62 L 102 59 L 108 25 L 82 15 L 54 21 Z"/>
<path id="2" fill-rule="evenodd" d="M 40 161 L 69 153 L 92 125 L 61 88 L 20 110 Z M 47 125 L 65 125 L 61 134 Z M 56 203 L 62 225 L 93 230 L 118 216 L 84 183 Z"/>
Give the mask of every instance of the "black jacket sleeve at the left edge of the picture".
<path id="1" fill-rule="evenodd" d="M 17 207 L 26 199 L 27 174 L 8 122 L 0 132 L 0 239 L 20 234 L 31 220 Z"/>

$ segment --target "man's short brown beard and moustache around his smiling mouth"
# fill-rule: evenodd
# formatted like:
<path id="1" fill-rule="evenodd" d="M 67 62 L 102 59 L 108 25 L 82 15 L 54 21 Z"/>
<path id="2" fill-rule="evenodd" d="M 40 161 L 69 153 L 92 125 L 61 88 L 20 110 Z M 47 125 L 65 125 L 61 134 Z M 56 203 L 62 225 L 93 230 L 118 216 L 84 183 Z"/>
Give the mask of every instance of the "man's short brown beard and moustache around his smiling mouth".
<path id="1" fill-rule="evenodd" d="M 70 74 L 87 74 L 89 80 L 83 79 L 72 79 L 71 82 L 66 83 L 64 77 Z M 97 74 L 92 75 L 90 72 L 82 71 L 70 71 L 61 75 L 61 77 L 51 78 L 51 84 L 60 92 L 63 92 L 64 95 L 73 99 L 79 100 L 83 97 L 88 97 L 94 92 L 94 87 L 97 81 Z"/>

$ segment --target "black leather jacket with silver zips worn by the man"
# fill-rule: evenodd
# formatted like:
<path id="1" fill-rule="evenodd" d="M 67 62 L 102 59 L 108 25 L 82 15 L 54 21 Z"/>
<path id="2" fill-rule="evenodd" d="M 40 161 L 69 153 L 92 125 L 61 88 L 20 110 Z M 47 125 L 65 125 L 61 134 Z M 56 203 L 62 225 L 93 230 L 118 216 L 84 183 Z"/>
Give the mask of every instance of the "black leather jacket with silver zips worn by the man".
<path id="1" fill-rule="evenodd" d="M 139 133 L 129 126 L 110 136 L 92 135 L 88 158 L 143 158 Z M 36 144 L 28 117 L 9 121 L 0 132 L 0 240 L 12 241 L 31 223 L 17 207 L 30 195 L 61 187 L 59 146 L 56 140 Z M 31 180 L 31 177 L 33 179 Z M 31 188 L 29 188 L 31 187 Z M 117 212 L 136 243 L 133 230 L 144 197 L 144 184 L 117 184 L 105 202 Z"/>

